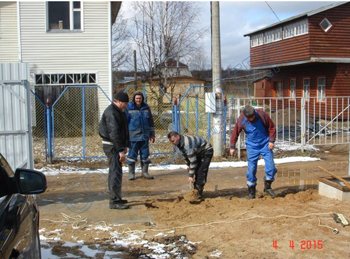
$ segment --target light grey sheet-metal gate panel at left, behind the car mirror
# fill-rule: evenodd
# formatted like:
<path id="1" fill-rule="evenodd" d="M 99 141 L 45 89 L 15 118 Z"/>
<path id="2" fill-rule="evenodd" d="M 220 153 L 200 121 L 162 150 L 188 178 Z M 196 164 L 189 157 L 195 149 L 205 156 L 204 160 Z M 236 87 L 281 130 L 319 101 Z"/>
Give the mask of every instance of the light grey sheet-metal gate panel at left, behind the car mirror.
<path id="1" fill-rule="evenodd" d="M 0 152 L 12 169 L 33 168 L 29 70 L 0 64 Z"/>

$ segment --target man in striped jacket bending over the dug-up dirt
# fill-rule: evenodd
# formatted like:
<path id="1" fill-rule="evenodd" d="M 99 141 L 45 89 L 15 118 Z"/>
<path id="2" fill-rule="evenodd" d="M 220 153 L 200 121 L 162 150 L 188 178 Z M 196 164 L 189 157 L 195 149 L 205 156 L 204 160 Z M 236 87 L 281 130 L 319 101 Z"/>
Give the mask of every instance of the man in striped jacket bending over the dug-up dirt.
<path id="1" fill-rule="evenodd" d="M 203 189 L 213 157 L 212 146 L 202 137 L 180 135 L 176 131 L 169 132 L 168 139 L 182 153 L 188 166 L 188 180 L 196 191 L 196 197 L 190 202 L 202 201 Z"/>

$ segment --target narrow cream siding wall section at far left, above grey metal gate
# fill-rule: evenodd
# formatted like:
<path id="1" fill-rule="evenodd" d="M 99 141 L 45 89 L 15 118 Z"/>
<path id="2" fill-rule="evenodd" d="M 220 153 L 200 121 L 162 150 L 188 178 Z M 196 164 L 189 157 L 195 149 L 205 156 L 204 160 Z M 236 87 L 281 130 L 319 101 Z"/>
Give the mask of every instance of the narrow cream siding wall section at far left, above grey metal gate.
<path id="1" fill-rule="evenodd" d="M 0 2 L 0 63 L 18 62 L 17 3 Z"/>

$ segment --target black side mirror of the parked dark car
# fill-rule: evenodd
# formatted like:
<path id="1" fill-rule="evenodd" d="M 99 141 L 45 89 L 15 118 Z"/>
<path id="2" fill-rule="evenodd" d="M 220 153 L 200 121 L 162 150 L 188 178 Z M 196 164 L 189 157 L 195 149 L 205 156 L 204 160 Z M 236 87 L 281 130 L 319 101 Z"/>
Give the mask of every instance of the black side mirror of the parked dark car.
<path id="1" fill-rule="evenodd" d="M 15 172 L 17 190 L 21 194 L 38 194 L 47 188 L 43 173 L 31 169 L 18 168 Z"/>

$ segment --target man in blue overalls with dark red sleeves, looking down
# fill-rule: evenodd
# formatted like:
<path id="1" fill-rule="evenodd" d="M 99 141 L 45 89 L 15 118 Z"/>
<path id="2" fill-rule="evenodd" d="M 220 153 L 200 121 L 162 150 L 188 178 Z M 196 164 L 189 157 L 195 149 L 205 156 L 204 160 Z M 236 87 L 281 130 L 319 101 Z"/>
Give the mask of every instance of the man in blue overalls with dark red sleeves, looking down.
<path id="1" fill-rule="evenodd" d="M 273 161 L 273 148 L 276 139 L 275 124 L 270 116 L 262 110 L 255 110 L 247 105 L 243 113 L 237 119 L 231 135 L 230 155 L 236 152 L 236 143 L 241 131 L 246 134 L 246 148 L 248 159 L 247 185 L 249 199 L 254 199 L 256 194 L 256 170 L 260 155 L 265 160 L 265 185 L 264 192 L 275 197 L 271 184 L 275 179 L 277 169 Z"/>

